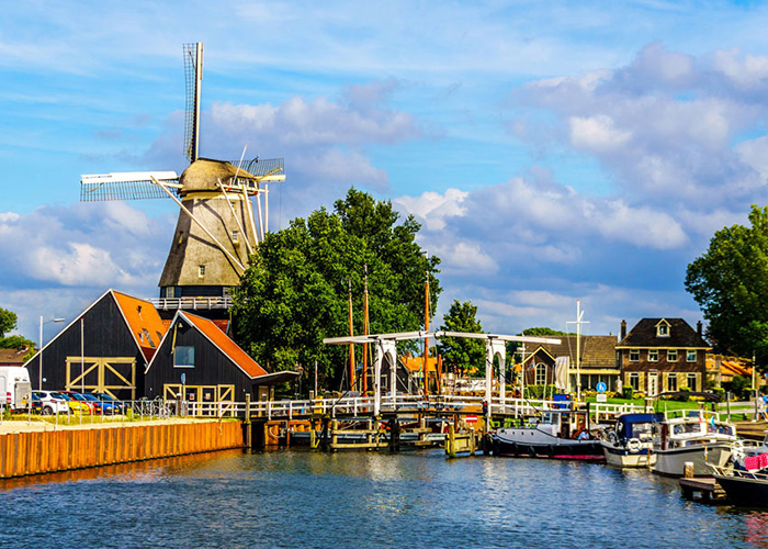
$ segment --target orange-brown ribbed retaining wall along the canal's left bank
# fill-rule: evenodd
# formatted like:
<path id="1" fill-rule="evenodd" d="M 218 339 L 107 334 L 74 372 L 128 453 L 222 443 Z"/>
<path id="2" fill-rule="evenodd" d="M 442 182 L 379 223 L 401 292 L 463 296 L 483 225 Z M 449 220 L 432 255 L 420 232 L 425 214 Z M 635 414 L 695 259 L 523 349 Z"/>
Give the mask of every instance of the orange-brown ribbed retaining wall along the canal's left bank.
<path id="1" fill-rule="evenodd" d="M 0 435 L 0 479 L 244 446 L 240 422 L 14 433 Z"/>

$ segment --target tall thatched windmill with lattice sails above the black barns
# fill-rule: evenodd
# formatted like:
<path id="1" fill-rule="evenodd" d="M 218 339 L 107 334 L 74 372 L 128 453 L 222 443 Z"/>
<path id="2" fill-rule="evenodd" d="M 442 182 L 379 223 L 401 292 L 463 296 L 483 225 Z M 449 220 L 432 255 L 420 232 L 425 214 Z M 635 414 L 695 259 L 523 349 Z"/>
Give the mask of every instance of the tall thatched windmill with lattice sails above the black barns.
<path id="1" fill-rule="evenodd" d="M 81 176 L 80 200 L 172 199 L 179 220 L 158 284 L 158 309 L 221 311 L 228 309 L 229 289 L 239 284 L 248 255 L 268 231 L 269 183 L 284 181 L 285 172 L 282 158 L 244 163 L 245 150 L 239 163 L 199 157 L 203 44 L 184 44 L 183 51 L 189 167 L 181 177 L 174 171 Z"/>

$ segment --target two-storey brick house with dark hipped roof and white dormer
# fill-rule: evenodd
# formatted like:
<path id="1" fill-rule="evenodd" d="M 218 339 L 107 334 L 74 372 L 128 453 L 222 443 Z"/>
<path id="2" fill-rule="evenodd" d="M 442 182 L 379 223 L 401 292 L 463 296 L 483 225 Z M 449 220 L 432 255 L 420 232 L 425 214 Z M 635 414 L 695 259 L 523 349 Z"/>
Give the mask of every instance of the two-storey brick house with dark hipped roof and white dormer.
<path id="1" fill-rule="evenodd" d="M 623 386 L 647 395 L 679 391 L 703 391 L 707 351 L 711 347 L 682 318 L 643 318 L 628 334 L 621 321 L 621 340 L 615 347 Z"/>

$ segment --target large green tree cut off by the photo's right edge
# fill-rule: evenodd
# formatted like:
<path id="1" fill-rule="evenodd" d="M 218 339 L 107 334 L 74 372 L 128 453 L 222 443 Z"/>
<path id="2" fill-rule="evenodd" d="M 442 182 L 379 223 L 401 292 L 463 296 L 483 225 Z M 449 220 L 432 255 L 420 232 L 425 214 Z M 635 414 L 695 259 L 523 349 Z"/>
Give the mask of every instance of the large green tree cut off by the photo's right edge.
<path id="1" fill-rule="evenodd" d="M 708 321 L 718 352 L 756 354 L 768 361 L 768 208 L 753 204 L 752 226 L 718 231 L 705 254 L 688 266 L 686 290 Z"/>

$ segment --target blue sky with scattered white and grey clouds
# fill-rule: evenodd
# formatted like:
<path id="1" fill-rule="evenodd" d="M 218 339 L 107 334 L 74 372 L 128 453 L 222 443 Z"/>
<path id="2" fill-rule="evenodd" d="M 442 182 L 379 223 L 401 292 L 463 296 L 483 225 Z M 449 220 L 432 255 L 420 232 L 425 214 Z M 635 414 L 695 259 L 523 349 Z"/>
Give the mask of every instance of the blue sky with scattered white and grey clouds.
<path id="1" fill-rule="evenodd" d="M 766 24 L 758 2 L 3 7 L 0 306 L 36 338 L 108 288 L 157 295 L 176 206 L 79 203 L 79 179 L 183 170 L 203 42 L 201 154 L 285 158 L 272 229 L 354 186 L 422 223 L 439 313 L 694 324 L 686 266 L 766 203 Z"/>

